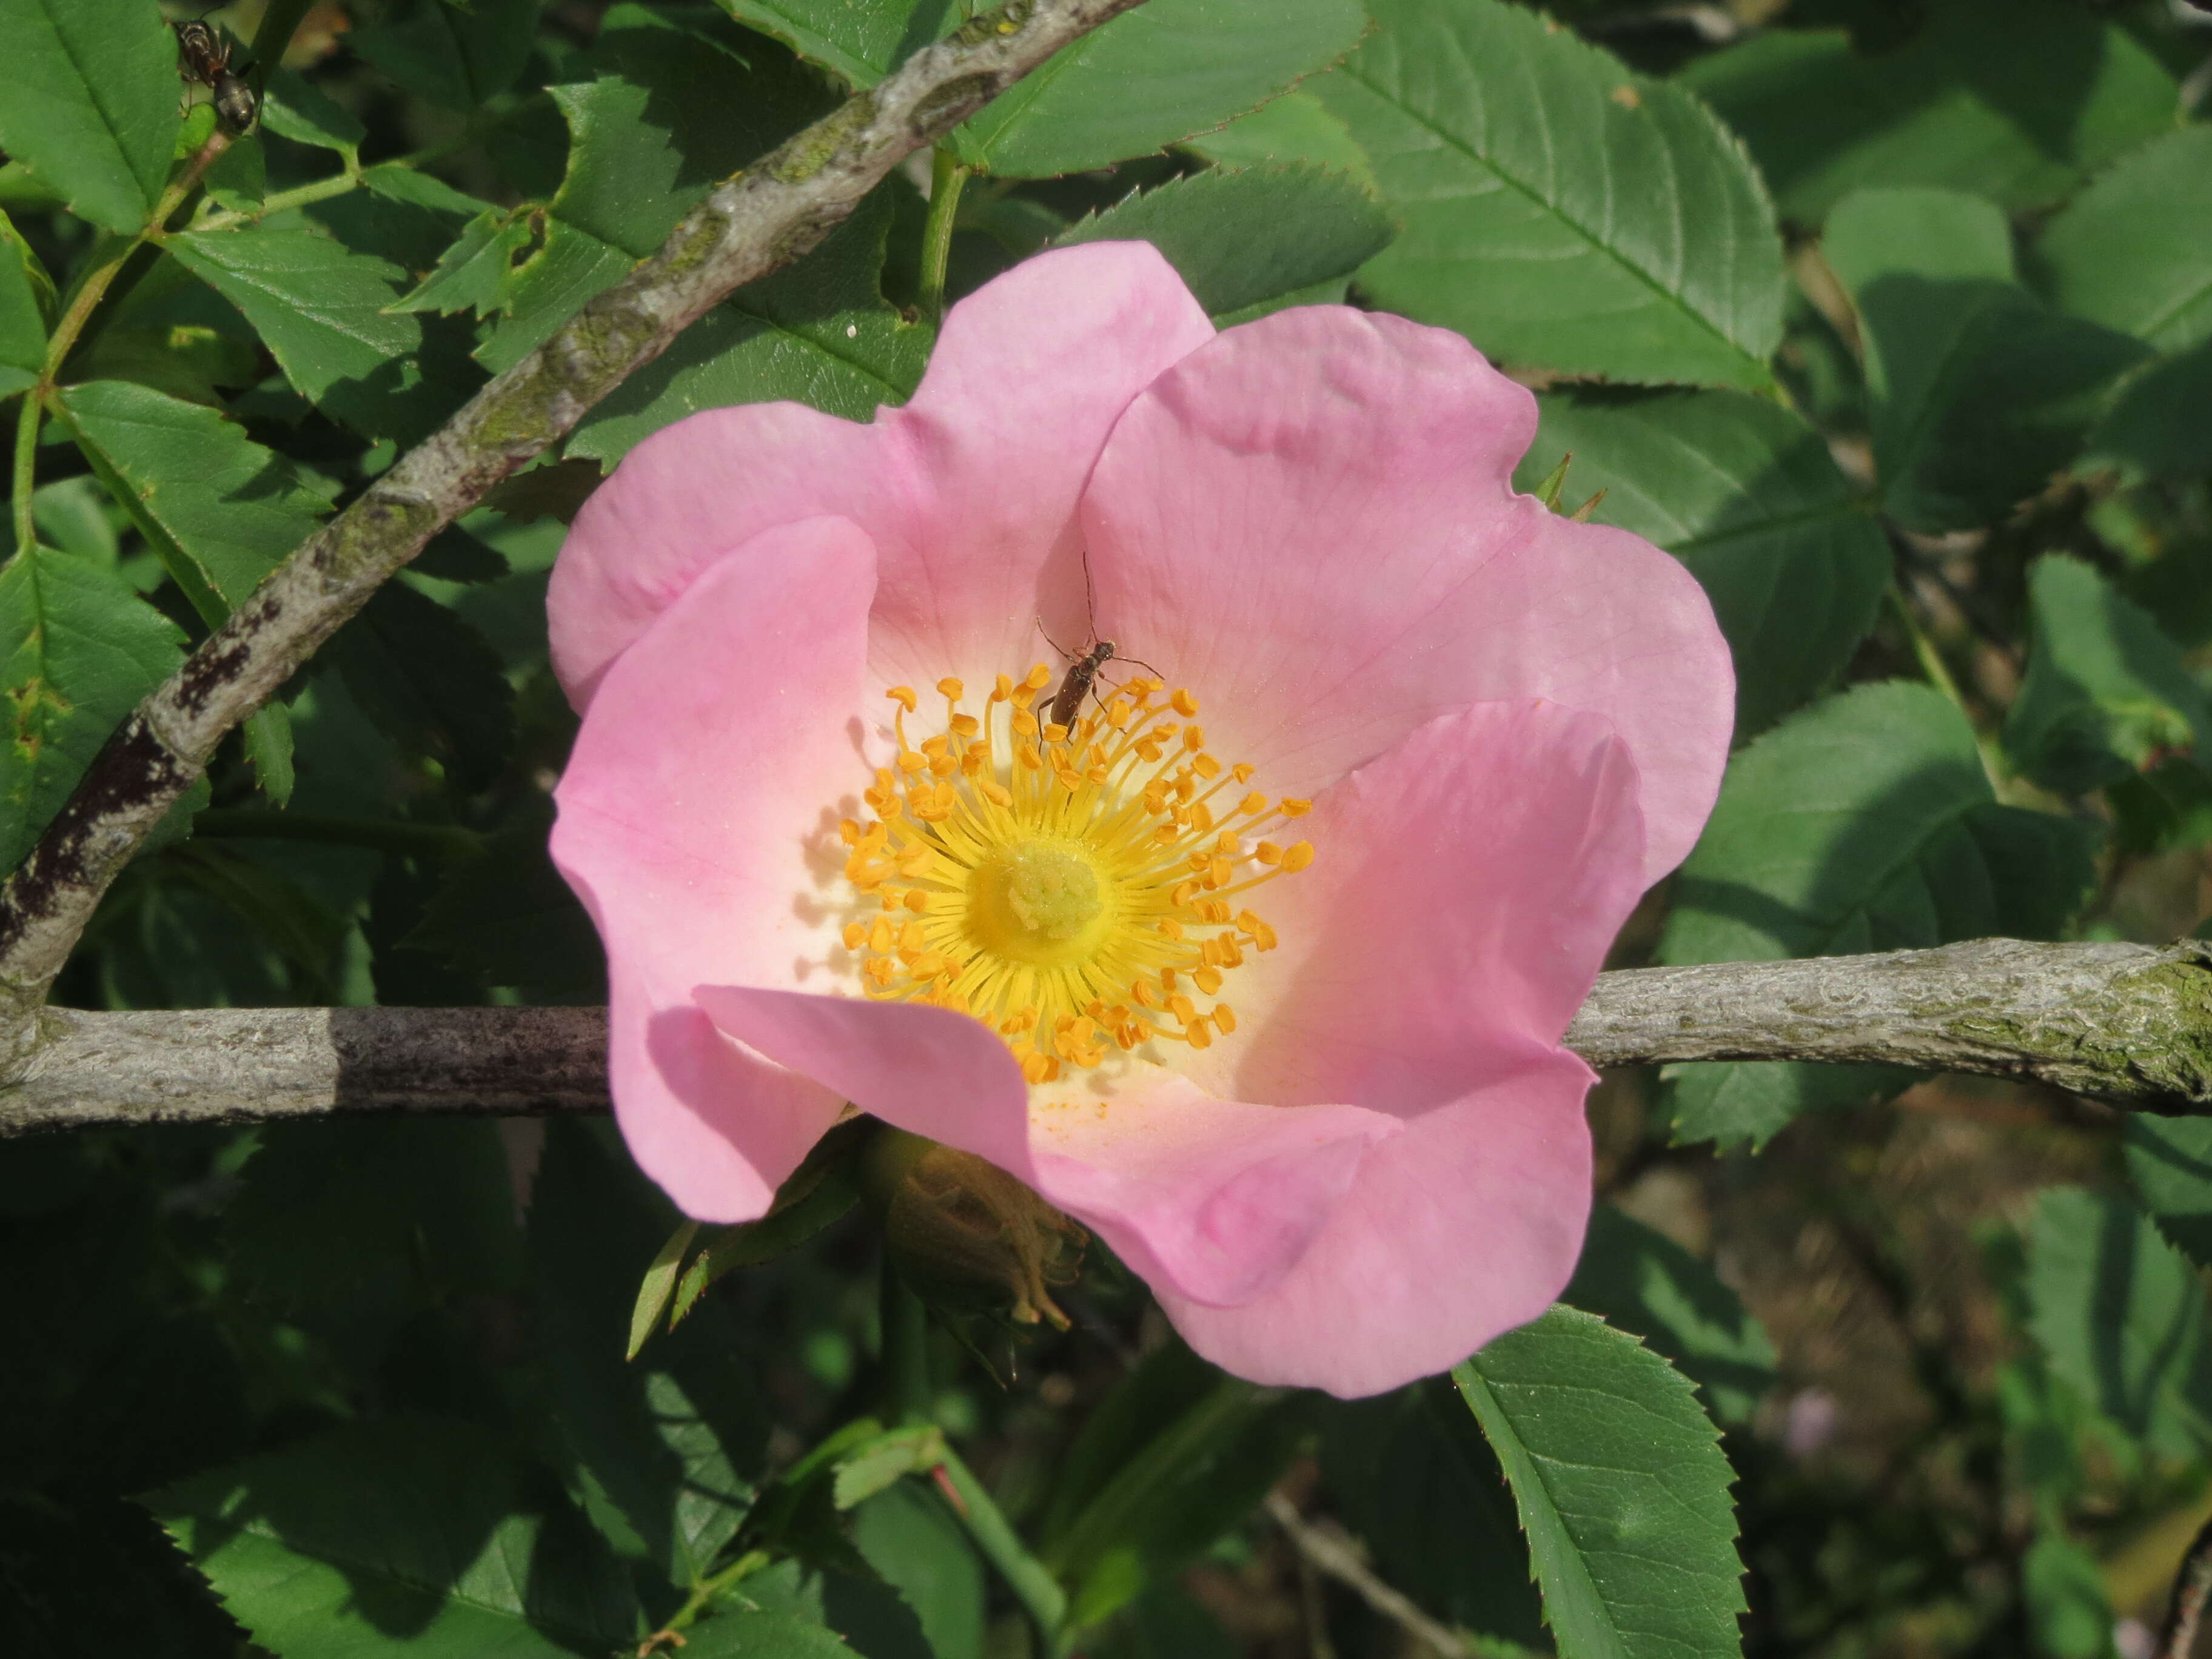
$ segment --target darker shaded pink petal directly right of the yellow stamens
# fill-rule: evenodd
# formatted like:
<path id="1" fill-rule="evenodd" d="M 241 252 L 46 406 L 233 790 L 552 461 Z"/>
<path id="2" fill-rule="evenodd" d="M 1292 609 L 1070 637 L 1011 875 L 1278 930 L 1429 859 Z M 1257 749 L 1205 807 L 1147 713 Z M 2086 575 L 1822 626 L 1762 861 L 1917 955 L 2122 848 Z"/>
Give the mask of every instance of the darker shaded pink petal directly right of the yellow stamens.
<path id="1" fill-rule="evenodd" d="M 1644 891 L 1628 748 L 1559 703 L 1442 714 L 1294 830 L 1250 900 L 1283 942 L 1221 987 L 1243 1099 L 1418 1113 L 1551 1055 Z"/>

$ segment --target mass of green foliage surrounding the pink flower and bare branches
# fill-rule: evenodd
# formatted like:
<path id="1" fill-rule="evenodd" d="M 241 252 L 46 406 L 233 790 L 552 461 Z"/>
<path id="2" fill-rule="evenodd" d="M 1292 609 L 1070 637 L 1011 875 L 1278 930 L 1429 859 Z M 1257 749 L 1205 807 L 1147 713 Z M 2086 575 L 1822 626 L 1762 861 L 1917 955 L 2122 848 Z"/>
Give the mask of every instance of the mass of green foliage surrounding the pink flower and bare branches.
<path id="1" fill-rule="evenodd" d="M 208 20 L 250 42 L 263 11 Z M 9 394 L 215 119 L 199 91 L 179 133 L 155 0 L 77 11 L 108 150 L 53 119 L 33 93 L 80 71 L 35 46 L 64 13 L 0 0 Z M 128 254 L 18 451 L 7 858 L 334 504 L 960 15 L 290 4 L 259 126 Z M 1458 327 L 1537 389 L 1522 487 L 1573 451 L 1568 504 L 1604 491 L 1705 582 L 1741 748 L 1617 967 L 2203 929 L 2212 13 L 1152 0 L 1077 51 L 951 144 L 978 168 L 951 296 L 1148 237 L 1223 323 L 1349 299 Z M 690 409 L 907 396 L 927 179 L 442 533 L 230 743 L 58 1000 L 597 1002 L 544 858 L 564 522 Z M 670 1621 L 690 1659 L 1035 1652 L 1037 1584 L 960 1478 L 1099 1659 L 1734 1650 L 1725 1575 L 1652 1590 L 1694 1604 L 1677 1630 L 1604 1568 L 1562 1590 L 1546 1548 L 1601 1562 L 1644 1504 L 1621 1451 L 1597 1531 L 1533 1509 L 1526 1471 L 1582 1444 L 1546 1389 L 1584 1380 L 1679 1405 L 1683 1469 L 1719 1433 L 1728 1471 L 1683 1502 L 1725 1511 L 1732 1471 L 1747 1652 L 2152 1652 L 2212 1517 L 2203 1124 L 1752 1064 L 1608 1075 L 1590 1119 L 1566 1303 L 1646 1349 L 1555 1314 L 1460 1389 L 1356 1405 L 1212 1371 L 1097 1245 L 1073 1329 L 953 1314 L 916 1394 L 836 1168 L 779 1234 L 699 1239 L 714 1272 L 624 1360 L 677 1217 L 604 1124 L 0 1141 L 0 1652 L 608 1655 Z"/>

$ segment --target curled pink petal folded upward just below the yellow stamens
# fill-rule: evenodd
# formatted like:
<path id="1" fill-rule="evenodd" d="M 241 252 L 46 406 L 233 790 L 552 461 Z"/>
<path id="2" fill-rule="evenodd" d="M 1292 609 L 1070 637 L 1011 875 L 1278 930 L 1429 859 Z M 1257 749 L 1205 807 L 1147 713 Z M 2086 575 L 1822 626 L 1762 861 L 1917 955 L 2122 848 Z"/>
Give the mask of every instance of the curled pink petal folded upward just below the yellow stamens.
<path id="1" fill-rule="evenodd" d="M 867 1113 L 987 1157 L 1095 1228 L 1157 1290 L 1234 1303 L 1274 1285 L 1327 1223 L 1367 1148 L 1398 1124 L 1358 1106 L 1208 1099 L 1150 1066 L 1110 1099 L 1068 1088 L 1031 1113 L 978 1020 L 856 998 L 699 987 L 728 1035 Z M 1044 1091 L 1051 1097 L 1057 1091 Z"/>

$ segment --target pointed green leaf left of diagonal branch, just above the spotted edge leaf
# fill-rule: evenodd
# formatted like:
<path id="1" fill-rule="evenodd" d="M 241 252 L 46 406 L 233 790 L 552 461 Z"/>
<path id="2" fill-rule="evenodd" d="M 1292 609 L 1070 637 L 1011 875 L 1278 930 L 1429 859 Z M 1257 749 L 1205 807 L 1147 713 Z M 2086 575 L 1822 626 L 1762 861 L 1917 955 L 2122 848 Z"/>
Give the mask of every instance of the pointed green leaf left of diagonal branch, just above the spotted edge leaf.
<path id="1" fill-rule="evenodd" d="M 66 387 L 86 460 L 210 626 L 314 533 L 330 502 L 215 409 L 126 380 Z"/>

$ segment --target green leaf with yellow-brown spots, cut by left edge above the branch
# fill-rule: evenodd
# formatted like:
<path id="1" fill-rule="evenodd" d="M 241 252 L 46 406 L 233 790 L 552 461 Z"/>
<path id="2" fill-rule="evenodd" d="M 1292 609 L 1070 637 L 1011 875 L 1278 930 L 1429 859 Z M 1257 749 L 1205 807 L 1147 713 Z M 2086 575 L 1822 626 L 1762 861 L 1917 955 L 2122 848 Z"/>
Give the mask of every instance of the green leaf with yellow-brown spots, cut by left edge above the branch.
<path id="1" fill-rule="evenodd" d="M 184 661 L 184 635 L 117 575 L 33 546 L 0 566 L 0 867 L 13 869 L 93 754 Z"/>

